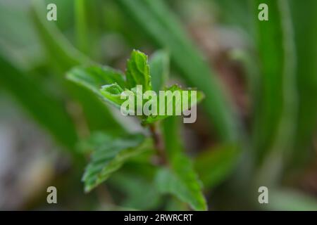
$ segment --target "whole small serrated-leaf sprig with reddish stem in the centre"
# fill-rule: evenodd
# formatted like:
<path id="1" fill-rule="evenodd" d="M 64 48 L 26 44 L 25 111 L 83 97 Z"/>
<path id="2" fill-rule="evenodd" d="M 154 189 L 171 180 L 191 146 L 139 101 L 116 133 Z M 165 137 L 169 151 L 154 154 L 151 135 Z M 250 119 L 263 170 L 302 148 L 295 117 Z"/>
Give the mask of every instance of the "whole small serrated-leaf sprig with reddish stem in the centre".
<path id="1" fill-rule="evenodd" d="M 139 108 L 144 108 L 149 102 L 153 103 L 162 101 L 156 98 L 156 92 L 163 89 L 174 93 L 180 91 L 179 96 L 169 98 L 163 96 L 164 110 L 172 109 L 173 114 L 164 115 L 138 115 L 145 130 L 149 129 L 150 136 L 144 134 L 128 134 L 126 129 L 123 129 L 119 134 L 108 134 L 97 132 L 91 137 L 82 141 L 80 144 L 84 150 L 92 150 L 91 160 L 85 169 L 85 174 L 82 180 L 85 182 L 85 191 L 89 192 L 97 187 L 102 182 L 106 181 L 113 172 L 116 172 L 128 160 L 132 160 L 140 155 L 145 155 L 150 161 L 153 156 L 156 156 L 156 172 L 154 180 L 156 188 L 161 193 L 170 193 L 178 197 L 185 203 L 188 203 L 193 210 L 206 210 L 206 200 L 201 191 L 201 182 L 197 174 L 194 172 L 192 162 L 187 158 L 182 151 L 182 146 L 177 142 L 171 146 L 168 139 L 161 134 L 161 121 L 176 115 L 177 108 L 180 107 L 183 111 L 189 110 L 194 105 L 199 103 L 203 98 L 203 94 L 197 91 L 194 98 L 189 94 L 190 103 L 185 103 L 183 91 L 178 85 L 163 88 L 166 82 L 168 72 L 168 55 L 159 51 L 154 54 L 154 57 L 148 63 L 147 56 L 140 51 L 132 51 L 131 57 L 128 60 L 127 70 L 125 75 L 118 70 L 101 66 L 75 67 L 68 72 L 68 79 L 85 86 L 107 104 L 113 105 L 116 108 L 122 106 L 124 100 L 122 95 L 125 91 L 130 91 L 136 98 L 135 110 L 130 112 L 132 115 L 137 115 Z M 163 78 L 163 79 L 162 79 Z M 148 101 L 137 101 L 138 86 L 145 91 L 153 91 L 152 96 Z M 189 92 L 191 93 L 191 92 Z M 196 92 L 195 92 L 196 93 Z M 179 97 L 179 98 L 177 98 Z M 187 101 L 187 99 L 186 99 Z M 151 108 L 152 107 L 152 108 Z M 153 105 L 151 105 L 153 110 Z M 156 108 L 156 110 L 158 110 Z M 118 111 L 118 113 L 120 113 Z M 174 118 L 166 123 L 169 126 L 175 126 Z M 169 136 L 173 139 L 178 139 L 177 127 L 169 130 Z"/>

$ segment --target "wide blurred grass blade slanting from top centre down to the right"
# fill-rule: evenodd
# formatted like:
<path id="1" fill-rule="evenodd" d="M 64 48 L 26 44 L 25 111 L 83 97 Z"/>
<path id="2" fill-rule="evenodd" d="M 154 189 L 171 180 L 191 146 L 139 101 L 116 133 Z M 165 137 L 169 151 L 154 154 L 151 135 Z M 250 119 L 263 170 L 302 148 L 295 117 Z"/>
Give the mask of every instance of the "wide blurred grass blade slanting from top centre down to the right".
<path id="1" fill-rule="evenodd" d="M 173 65 L 178 68 L 189 85 L 197 87 L 206 94 L 204 106 L 220 139 L 236 140 L 240 135 L 238 122 L 232 105 L 221 89 L 220 82 L 163 1 L 118 0 L 117 2 L 155 44 L 170 52 Z"/>

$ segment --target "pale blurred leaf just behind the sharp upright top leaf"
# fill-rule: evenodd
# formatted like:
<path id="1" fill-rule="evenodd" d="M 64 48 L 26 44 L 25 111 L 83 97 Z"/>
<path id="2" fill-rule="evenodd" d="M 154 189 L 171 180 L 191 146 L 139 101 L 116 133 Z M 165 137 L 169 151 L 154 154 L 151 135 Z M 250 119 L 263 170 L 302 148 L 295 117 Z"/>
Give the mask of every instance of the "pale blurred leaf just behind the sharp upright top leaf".
<path id="1" fill-rule="evenodd" d="M 170 71 L 170 58 L 166 51 L 156 51 L 149 60 L 152 89 L 158 93 L 166 84 Z"/>

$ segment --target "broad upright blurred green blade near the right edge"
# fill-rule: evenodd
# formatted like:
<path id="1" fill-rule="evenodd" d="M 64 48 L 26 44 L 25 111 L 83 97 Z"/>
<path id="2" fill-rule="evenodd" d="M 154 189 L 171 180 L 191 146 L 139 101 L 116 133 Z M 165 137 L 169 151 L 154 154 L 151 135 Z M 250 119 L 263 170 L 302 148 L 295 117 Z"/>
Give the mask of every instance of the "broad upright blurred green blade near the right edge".
<path id="1" fill-rule="evenodd" d="M 259 162 L 269 153 L 277 160 L 287 158 L 297 114 L 296 53 L 289 6 L 285 0 L 255 1 L 256 18 L 259 13 L 256 6 L 261 3 L 268 4 L 269 20 L 256 20 L 261 77 L 255 104 L 254 140 Z M 273 162 L 267 166 L 273 168 Z"/>

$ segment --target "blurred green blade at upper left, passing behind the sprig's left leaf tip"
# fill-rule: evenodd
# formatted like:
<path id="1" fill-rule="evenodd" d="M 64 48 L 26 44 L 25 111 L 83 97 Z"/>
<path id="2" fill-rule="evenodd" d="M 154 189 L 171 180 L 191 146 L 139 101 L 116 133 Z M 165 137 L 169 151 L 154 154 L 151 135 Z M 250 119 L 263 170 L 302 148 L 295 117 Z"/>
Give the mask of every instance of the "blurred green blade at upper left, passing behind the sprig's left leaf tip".
<path id="1" fill-rule="evenodd" d="M 52 69 L 55 70 L 56 75 L 60 75 L 56 79 L 60 79 L 61 84 L 64 84 L 69 94 L 82 105 L 85 114 L 84 119 L 87 120 L 89 129 L 105 131 L 122 129 L 113 115 L 111 115 L 111 112 L 109 112 L 107 106 L 97 96 L 94 96 L 94 94 L 82 86 L 66 82 L 65 74 L 70 68 L 73 68 L 75 65 L 93 63 L 63 37 L 63 34 L 54 25 L 54 22 L 49 23 L 46 20 L 44 12 L 46 12 L 44 4 L 34 0 L 32 17 L 44 49 L 46 49 L 47 56 L 49 56 Z"/>

